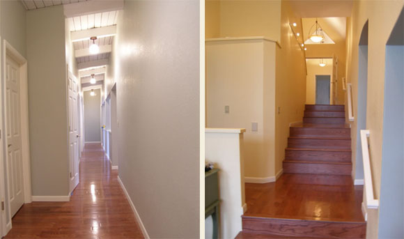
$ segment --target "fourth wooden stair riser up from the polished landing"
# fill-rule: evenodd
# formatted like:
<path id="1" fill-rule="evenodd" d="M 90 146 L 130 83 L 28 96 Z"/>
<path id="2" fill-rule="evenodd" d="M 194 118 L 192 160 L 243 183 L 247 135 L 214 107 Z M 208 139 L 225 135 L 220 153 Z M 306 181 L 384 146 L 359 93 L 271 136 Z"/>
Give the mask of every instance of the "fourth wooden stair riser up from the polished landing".
<path id="1" fill-rule="evenodd" d="M 336 128 L 290 128 L 290 137 L 350 137 L 350 129 Z"/>

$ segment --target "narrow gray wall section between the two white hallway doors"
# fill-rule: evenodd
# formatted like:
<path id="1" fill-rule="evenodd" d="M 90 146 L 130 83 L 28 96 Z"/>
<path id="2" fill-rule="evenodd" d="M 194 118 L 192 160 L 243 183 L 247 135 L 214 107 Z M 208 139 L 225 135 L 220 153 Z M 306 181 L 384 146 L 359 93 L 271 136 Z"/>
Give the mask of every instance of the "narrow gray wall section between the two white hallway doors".
<path id="1" fill-rule="evenodd" d="M 26 12 L 33 196 L 69 193 L 63 6 Z"/>

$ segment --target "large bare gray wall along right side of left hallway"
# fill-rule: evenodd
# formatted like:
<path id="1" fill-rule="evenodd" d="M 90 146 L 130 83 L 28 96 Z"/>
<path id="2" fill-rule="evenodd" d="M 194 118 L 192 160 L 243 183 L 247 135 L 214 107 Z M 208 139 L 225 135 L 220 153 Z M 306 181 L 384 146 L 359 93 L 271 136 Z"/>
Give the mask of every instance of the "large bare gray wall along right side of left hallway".
<path id="1" fill-rule="evenodd" d="M 114 44 L 119 177 L 150 238 L 199 238 L 199 1 L 125 1 Z"/>

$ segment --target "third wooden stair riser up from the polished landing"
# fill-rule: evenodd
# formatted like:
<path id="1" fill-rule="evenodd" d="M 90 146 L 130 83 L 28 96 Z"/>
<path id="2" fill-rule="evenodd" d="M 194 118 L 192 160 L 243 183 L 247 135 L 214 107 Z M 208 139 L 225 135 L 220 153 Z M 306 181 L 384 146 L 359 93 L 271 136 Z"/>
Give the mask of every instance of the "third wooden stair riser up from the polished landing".
<path id="1" fill-rule="evenodd" d="M 350 139 L 288 139 L 288 148 L 350 149 Z"/>

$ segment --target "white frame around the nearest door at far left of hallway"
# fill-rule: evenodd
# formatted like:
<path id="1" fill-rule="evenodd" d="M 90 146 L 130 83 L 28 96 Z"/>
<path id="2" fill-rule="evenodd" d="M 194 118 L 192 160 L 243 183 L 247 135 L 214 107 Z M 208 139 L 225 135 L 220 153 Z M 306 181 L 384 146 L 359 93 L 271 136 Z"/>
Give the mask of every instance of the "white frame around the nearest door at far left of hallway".
<path id="1" fill-rule="evenodd" d="M 16 61 L 20 65 L 20 113 L 21 113 L 21 147 L 22 147 L 22 173 L 23 173 L 23 184 L 24 184 L 24 203 L 32 202 L 32 193 L 31 193 L 31 159 L 29 153 L 29 115 L 28 115 L 28 76 L 27 76 L 27 61 L 22 56 L 17 49 L 15 49 L 7 40 L 3 40 L 3 69 L 6 69 L 6 57 L 10 56 L 14 61 Z M 4 116 L 4 125 L 7 125 L 7 112 L 3 109 L 3 103 L 6 103 L 6 70 L 3 70 L 1 84 L 4 86 L 3 91 L 1 91 L 0 95 L 0 107 L 1 112 L 3 112 Z M 3 118 L 0 117 L 1 126 L 3 122 L 1 122 Z M 3 132 L 1 134 L 2 144 L 0 147 L 0 153 L 3 155 L 7 145 L 7 128 L 3 128 Z M 6 155 L 7 157 L 7 155 Z M 5 158 L 2 161 L 6 160 Z M 3 164 L 4 165 L 4 164 Z M 7 176 L 10 175 L 8 172 L 8 162 L 6 160 L 6 169 Z M 3 166 L 1 166 L 3 167 Z M 4 179 L 2 178 L 2 183 L 4 186 Z M 10 180 L 7 180 L 7 190 L 8 194 L 10 194 Z M 1 183 L 1 182 L 0 182 Z M 10 202 L 7 200 L 6 208 L 8 208 L 8 216 L 10 218 L 10 222 L 6 225 L 7 233 L 11 229 L 11 215 L 10 215 Z"/>

